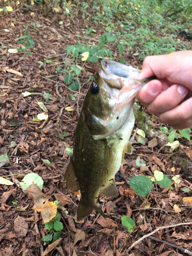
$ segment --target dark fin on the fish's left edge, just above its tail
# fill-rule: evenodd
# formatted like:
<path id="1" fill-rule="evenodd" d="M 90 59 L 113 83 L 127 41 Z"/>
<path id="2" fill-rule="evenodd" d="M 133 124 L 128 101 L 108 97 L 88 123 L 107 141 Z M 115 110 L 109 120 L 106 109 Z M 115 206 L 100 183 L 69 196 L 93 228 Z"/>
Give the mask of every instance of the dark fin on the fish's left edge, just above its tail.
<path id="1" fill-rule="evenodd" d="M 73 160 L 70 161 L 68 167 L 66 169 L 66 173 L 64 175 L 64 183 L 66 184 L 67 188 L 73 190 L 79 190 L 79 184 L 77 182 L 77 178 L 75 176 Z"/>

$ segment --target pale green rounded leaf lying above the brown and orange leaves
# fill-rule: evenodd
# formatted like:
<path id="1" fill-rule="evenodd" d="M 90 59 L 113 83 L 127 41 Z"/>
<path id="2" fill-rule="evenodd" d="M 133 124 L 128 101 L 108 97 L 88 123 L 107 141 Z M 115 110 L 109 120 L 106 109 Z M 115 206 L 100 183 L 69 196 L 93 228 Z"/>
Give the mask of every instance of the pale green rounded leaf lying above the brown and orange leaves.
<path id="1" fill-rule="evenodd" d="M 22 182 L 20 182 L 20 186 L 23 190 L 26 190 L 30 185 L 36 184 L 40 190 L 42 190 L 42 185 L 44 184 L 44 181 L 38 174 L 27 174 Z"/>

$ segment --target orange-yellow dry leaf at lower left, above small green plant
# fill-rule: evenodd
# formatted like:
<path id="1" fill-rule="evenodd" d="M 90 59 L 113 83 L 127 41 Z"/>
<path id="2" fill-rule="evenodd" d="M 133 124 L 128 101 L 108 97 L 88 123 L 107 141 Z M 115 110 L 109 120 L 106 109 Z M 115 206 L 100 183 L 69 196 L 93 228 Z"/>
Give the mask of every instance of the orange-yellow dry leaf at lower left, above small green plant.
<path id="1" fill-rule="evenodd" d="M 57 213 L 57 205 L 54 202 L 48 200 L 44 203 L 36 202 L 32 209 L 36 209 L 41 212 L 41 217 L 44 223 L 52 220 Z"/>

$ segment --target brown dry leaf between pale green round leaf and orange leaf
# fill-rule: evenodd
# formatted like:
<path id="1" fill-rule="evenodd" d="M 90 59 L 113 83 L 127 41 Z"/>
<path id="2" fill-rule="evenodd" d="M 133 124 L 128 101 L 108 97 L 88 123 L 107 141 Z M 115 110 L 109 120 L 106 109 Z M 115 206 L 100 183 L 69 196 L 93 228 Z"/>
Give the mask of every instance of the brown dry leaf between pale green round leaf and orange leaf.
<path id="1" fill-rule="evenodd" d="M 42 193 L 36 184 L 31 184 L 27 189 L 23 191 L 34 202 L 40 201 L 40 199 L 45 202 L 48 198 L 44 193 Z"/>

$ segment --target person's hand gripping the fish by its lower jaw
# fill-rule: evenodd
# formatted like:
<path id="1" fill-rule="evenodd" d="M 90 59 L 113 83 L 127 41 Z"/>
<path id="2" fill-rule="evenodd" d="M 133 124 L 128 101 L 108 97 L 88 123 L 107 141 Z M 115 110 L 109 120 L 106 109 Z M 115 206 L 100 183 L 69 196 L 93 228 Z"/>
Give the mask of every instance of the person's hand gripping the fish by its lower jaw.
<path id="1" fill-rule="evenodd" d="M 192 125 L 192 51 L 148 56 L 139 79 L 156 75 L 137 94 L 137 99 L 151 114 L 174 129 Z M 187 100 L 183 101 L 186 96 Z"/>

